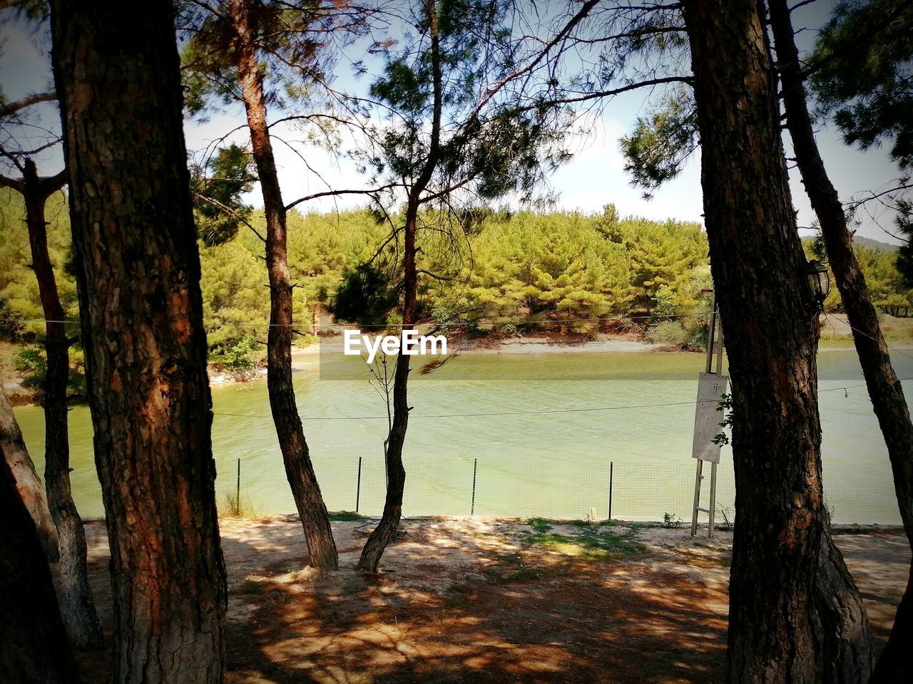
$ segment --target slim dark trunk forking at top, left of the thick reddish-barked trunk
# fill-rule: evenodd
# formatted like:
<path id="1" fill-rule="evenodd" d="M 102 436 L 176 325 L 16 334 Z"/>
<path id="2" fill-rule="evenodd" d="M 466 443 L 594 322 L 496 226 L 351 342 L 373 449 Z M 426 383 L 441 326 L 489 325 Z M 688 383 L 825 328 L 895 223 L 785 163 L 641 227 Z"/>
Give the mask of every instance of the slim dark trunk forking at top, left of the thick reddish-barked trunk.
<path id="1" fill-rule="evenodd" d="M 57 527 L 60 549 L 60 614 L 74 648 L 101 648 L 101 632 L 95 601 L 89 587 L 86 566 L 86 533 L 73 503 L 69 484 L 69 433 L 67 419 L 67 382 L 69 343 L 64 326 L 57 281 L 47 254 L 45 203 L 51 192 L 65 182 L 38 178 L 35 163 L 26 161 L 23 197 L 26 202 L 28 242 L 32 269 L 38 281 L 38 295 L 45 315 L 47 372 L 41 398 L 45 409 L 45 487 L 47 505 Z M 52 181 L 48 183 L 48 181 Z"/>

